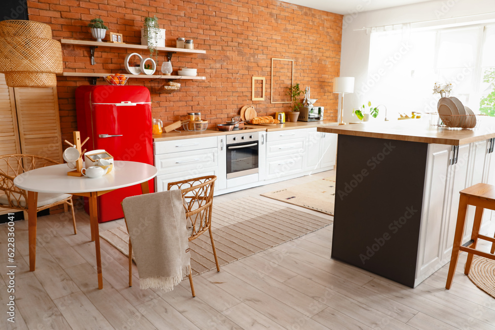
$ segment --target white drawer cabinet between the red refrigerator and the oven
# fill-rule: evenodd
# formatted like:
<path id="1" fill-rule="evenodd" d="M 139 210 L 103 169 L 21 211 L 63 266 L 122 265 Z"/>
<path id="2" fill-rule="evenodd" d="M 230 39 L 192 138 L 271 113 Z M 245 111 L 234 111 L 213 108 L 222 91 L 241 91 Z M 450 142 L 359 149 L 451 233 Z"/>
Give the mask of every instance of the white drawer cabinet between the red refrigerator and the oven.
<path id="1" fill-rule="evenodd" d="M 154 162 L 158 168 L 156 191 L 169 182 L 216 175 L 215 190 L 226 188 L 225 136 L 156 141 Z"/>

